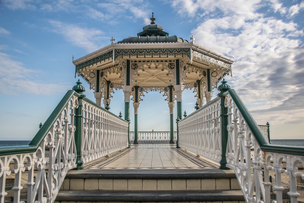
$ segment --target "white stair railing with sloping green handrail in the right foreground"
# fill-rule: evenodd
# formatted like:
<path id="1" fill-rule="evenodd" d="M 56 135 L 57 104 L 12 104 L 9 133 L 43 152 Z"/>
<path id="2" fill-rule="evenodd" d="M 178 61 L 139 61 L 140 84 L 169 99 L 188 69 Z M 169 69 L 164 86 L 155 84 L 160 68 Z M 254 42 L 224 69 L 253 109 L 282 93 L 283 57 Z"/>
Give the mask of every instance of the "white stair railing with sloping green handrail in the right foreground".
<path id="1" fill-rule="evenodd" d="M 276 191 L 274 202 L 282 202 L 281 175 L 284 173 L 289 177 L 288 198 L 292 203 L 298 202 L 296 177 L 304 179 L 304 174 L 297 166 L 304 163 L 304 148 L 270 145 L 233 89 L 228 90 L 225 105 L 229 120 L 226 166 L 235 171 L 246 202 L 271 202 L 271 187 Z M 271 186 L 268 178 L 263 180 L 262 170 L 265 177 L 269 177 L 270 171 L 275 172 L 275 186 Z"/>

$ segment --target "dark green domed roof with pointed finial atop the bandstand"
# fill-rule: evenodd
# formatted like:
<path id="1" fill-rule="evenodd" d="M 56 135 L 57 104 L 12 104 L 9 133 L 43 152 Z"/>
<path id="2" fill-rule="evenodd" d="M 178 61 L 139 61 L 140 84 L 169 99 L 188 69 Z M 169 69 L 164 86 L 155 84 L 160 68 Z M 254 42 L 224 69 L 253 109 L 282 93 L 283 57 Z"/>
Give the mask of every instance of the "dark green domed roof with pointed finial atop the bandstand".
<path id="1" fill-rule="evenodd" d="M 129 37 L 117 42 L 117 44 L 122 43 L 158 43 L 158 42 L 188 42 L 177 36 L 169 37 L 169 33 L 163 31 L 163 27 L 155 24 L 154 13 L 152 13 L 152 18 L 150 18 L 150 25 L 144 26 L 143 31 L 137 33 L 137 37 Z"/>

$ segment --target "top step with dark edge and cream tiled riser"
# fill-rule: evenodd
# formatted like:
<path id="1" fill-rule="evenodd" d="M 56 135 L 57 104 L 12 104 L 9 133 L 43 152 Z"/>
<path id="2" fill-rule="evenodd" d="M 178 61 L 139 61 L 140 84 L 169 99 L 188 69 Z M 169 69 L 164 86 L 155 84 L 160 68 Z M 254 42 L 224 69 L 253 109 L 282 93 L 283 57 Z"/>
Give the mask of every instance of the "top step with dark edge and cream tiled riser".
<path id="1" fill-rule="evenodd" d="M 80 170 L 69 171 L 61 190 L 239 190 L 232 170 Z"/>

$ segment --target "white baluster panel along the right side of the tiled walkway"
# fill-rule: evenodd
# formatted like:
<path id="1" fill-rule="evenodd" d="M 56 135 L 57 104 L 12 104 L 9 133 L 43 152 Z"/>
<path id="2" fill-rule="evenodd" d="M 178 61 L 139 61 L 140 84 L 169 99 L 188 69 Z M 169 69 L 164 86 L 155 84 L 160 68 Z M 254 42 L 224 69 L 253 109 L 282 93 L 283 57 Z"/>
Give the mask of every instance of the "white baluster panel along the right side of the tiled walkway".
<path id="1" fill-rule="evenodd" d="M 222 153 L 220 98 L 178 122 L 178 146 L 219 163 Z"/>

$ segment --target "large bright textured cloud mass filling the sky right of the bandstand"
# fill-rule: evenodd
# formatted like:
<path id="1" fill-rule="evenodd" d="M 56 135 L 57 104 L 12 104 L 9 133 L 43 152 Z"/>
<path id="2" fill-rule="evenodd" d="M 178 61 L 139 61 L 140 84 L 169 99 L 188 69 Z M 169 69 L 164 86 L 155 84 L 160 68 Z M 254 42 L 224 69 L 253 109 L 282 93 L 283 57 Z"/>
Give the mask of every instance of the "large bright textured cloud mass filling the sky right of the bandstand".
<path id="1" fill-rule="evenodd" d="M 304 99 L 304 49 L 300 48 L 303 30 L 292 21 L 264 16 L 259 1 L 192 2 L 196 8 L 182 9 L 188 1 L 173 1 L 172 6 L 189 16 L 209 12 L 218 16 L 204 19 L 192 30 L 196 41 L 219 53 L 235 56 L 233 77 L 228 84 L 236 89 L 258 123 L 298 123 L 304 120 L 304 108 L 296 101 Z M 186 3 L 187 2 L 187 3 Z M 243 2 L 243 3 L 242 3 Z M 284 13 L 282 4 L 271 1 L 275 12 Z M 233 6 L 232 4 L 235 4 Z M 299 4 L 300 5 L 300 4 Z M 299 5 L 293 8 L 295 15 Z M 194 13 L 195 12 L 195 13 Z M 294 116 L 293 114 L 297 115 Z"/>

